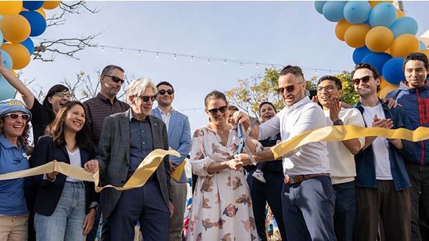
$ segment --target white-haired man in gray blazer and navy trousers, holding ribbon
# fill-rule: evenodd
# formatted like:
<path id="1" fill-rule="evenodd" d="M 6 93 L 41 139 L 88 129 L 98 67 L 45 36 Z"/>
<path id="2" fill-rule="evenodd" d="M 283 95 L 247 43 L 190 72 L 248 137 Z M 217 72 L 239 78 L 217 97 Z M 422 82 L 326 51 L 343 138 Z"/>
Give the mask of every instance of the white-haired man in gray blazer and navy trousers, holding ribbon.
<path id="1" fill-rule="evenodd" d="M 101 185 L 123 186 L 150 151 L 168 149 L 166 125 L 150 116 L 156 95 L 150 78 L 137 78 L 127 90 L 130 109 L 104 120 L 96 158 Z M 101 191 L 103 217 L 110 221 L 112 241 L 132 241 L 137 221 L 143 240 L 168 240 L 173 212 L 169 165 L 166 156 L 143 187 Z"/>

